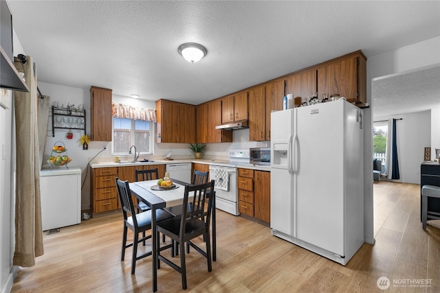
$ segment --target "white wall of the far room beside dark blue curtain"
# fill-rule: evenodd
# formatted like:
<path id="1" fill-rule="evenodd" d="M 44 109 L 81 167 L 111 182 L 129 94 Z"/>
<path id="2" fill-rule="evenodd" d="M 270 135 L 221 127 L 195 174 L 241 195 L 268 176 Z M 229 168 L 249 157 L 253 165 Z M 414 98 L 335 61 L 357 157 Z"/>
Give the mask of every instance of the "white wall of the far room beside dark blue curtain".
<path id="1" fill-rule="evenodd" d="M 420 164 L 424 149 L 431 141 L 431 111 L 380 117 L 377 120 L 399 119 L 397 128 L 397 159 L 401 183 L 420 184 Z M 389 130 L 388 130 L 389 131 Z"/>

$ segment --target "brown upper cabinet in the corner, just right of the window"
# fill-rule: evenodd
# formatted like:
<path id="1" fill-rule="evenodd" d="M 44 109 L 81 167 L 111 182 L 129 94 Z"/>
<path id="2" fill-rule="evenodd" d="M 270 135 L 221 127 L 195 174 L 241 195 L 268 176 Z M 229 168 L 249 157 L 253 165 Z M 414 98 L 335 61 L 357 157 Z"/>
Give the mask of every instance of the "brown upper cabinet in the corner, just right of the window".
<path id="1" fill-rule="evenodd" d="M 195 141 L 195 106 L 159 99 L 156 117 L 156 143 Z"/>

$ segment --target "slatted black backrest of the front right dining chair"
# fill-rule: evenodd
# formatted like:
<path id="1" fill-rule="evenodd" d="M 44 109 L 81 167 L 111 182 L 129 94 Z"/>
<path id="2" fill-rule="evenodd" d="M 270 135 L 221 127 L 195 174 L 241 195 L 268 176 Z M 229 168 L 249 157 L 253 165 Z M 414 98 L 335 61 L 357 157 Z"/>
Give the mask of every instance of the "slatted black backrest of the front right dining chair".
<path id="1" fill-rule="evenodd" d="M 210 190 L 214 190 L 214 180 L 201 185 L 185 185 L 184 202 L 182 205 L 181 215 L 186 215 L 186 217 L 181 217 L 180 235 L 184 235 L 186 222 L 191 220 L 202 220 L 205 223 L 206 228 L 209 227 L 212 210 L 211 200 L 214 199 L 214 197 L 209 196 Z M 188 202 L 190 196 L 192 196 L 192 200 L 190 201 L 192 204 L 192 209 L 188 211 Z"/>

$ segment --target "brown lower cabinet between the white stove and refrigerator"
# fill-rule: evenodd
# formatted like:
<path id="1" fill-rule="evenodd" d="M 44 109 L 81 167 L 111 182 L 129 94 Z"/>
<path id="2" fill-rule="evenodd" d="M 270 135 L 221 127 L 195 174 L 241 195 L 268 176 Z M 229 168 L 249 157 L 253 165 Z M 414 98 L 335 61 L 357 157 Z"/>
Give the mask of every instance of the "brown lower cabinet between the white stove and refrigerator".
<path id="1" fill-rule="evenodd" d="M 239 211 L 270 223 L 270 172 L 239 168 Z"/>

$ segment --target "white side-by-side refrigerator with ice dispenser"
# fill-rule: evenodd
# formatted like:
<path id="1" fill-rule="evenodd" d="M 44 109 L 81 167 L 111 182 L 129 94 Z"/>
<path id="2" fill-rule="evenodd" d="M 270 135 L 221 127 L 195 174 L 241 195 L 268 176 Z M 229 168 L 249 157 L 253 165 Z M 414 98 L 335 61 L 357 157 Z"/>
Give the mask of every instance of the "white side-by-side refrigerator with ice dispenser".
<path id="1" fill-rule="evenodd" d="M 364 242 L 362 109 L 344 99 L 271 115 L 272 234 L 345 265 Z"/>

